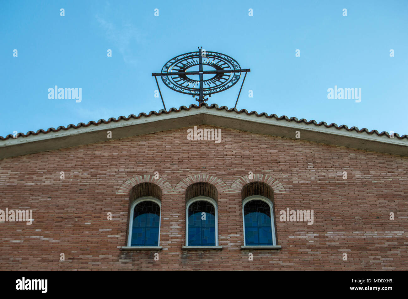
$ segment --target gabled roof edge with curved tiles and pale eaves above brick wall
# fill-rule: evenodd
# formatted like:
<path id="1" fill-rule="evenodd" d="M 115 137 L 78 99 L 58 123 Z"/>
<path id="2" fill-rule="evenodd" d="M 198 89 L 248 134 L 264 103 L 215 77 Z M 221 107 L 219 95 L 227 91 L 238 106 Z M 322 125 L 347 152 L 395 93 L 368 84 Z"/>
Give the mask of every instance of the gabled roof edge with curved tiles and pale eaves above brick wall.
<path id="1" fill-rule="evenodd" d="M 57 129 L 49 128 L 47 131 L 18 133 L 17 138 L 13 138 L 11 134 L 5 138 L 0 136 L 0 159 L 106 141 L 109 140 L 106 138 L 107 130 L 112 131 L 112 139 L 120 139 L 202 124 L 290 139 L 295 139 L 295 131 L 298 130 L 302 140 L 408 156 L 407 135 L 399 136 L 395 133 L 394 138 L 390 138 L 388 132 L 379 133 L 365 128 L 359 130 L 357 127 L 348 128 L 335 123 L 328 125 L 325 122 L 278 117 L 264 112 L 258 114 L 255 111 L 238 111 L 235 108 L 218 107 L 216 104 L 208 106 L 203 103 L 200 106 L 193 104 L 188 108 L 182 106 L 169 111 L 140 113 L 138 116 L 131 114 L 129 117 L 121 116 L 107 121 L 100 119 L 98 122 L 71 124 Z"/>

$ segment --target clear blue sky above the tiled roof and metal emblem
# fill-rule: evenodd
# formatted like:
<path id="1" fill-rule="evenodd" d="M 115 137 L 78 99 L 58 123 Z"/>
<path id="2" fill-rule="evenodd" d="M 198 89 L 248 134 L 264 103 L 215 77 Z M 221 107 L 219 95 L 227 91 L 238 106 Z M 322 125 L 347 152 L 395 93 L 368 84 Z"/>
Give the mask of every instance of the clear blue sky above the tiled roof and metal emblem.
<path id="1" fill-rule="evenodd" d="M 408 134 L 408 1 L 1 1 L 0 41 L 0 136 L 158 111 L 151 73 L 197 46 L 251 68 L 238 109 Z M 167 109 L 197 103 L 159 84 Z M 208 104 L 233 108 L 240 84 Z"/>

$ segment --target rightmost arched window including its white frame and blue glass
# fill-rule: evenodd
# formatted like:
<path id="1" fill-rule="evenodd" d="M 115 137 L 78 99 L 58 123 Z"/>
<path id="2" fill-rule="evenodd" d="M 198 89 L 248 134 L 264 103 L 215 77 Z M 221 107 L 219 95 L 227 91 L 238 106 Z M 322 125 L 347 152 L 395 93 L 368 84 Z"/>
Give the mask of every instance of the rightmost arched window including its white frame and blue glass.
<path id="1" fill-rule="evenodd" d="M 245 246 L 276 245 L 273 203 L 263 196 L 250 196 L 242 202 Z"/>

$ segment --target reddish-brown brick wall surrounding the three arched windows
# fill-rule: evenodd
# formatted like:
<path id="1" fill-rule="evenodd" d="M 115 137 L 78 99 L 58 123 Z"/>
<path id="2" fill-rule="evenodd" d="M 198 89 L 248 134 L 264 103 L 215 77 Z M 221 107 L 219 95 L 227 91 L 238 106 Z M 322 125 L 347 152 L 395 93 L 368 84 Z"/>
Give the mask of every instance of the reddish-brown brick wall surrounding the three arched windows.
<path id="1" fill-rule="evenodd" d="M 0 209 L 34 218 L 0 223 L 1 270 L 408 269 L 407 157 L 224 128 L 221 140 L 189 141 L 184 128 L 0 160 Z M 163 250 L 122 251 L 129 194 L 121 185 L 155 182 L 155 171 L 165 186 Z M 230 187 L 249 171 L 273 185 L 281 250 L 241 249 L 241 190 Z M 217 187 L 222 250 L 182 250 L 186 187 L 199 174 Z M 279 221 L 286 208 L 313 210 L 314 224 Z"/>

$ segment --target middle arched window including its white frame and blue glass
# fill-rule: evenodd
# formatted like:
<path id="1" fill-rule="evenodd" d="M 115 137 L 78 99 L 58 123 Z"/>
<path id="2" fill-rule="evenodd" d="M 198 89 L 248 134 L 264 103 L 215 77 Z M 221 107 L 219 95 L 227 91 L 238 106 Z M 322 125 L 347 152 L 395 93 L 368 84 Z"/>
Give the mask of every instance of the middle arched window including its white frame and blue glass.
<path id="1" fill-rule="evenodd" d="M 199 196 L 186 206 L 186 246 L 218 246 L 217 202 Z"/>

